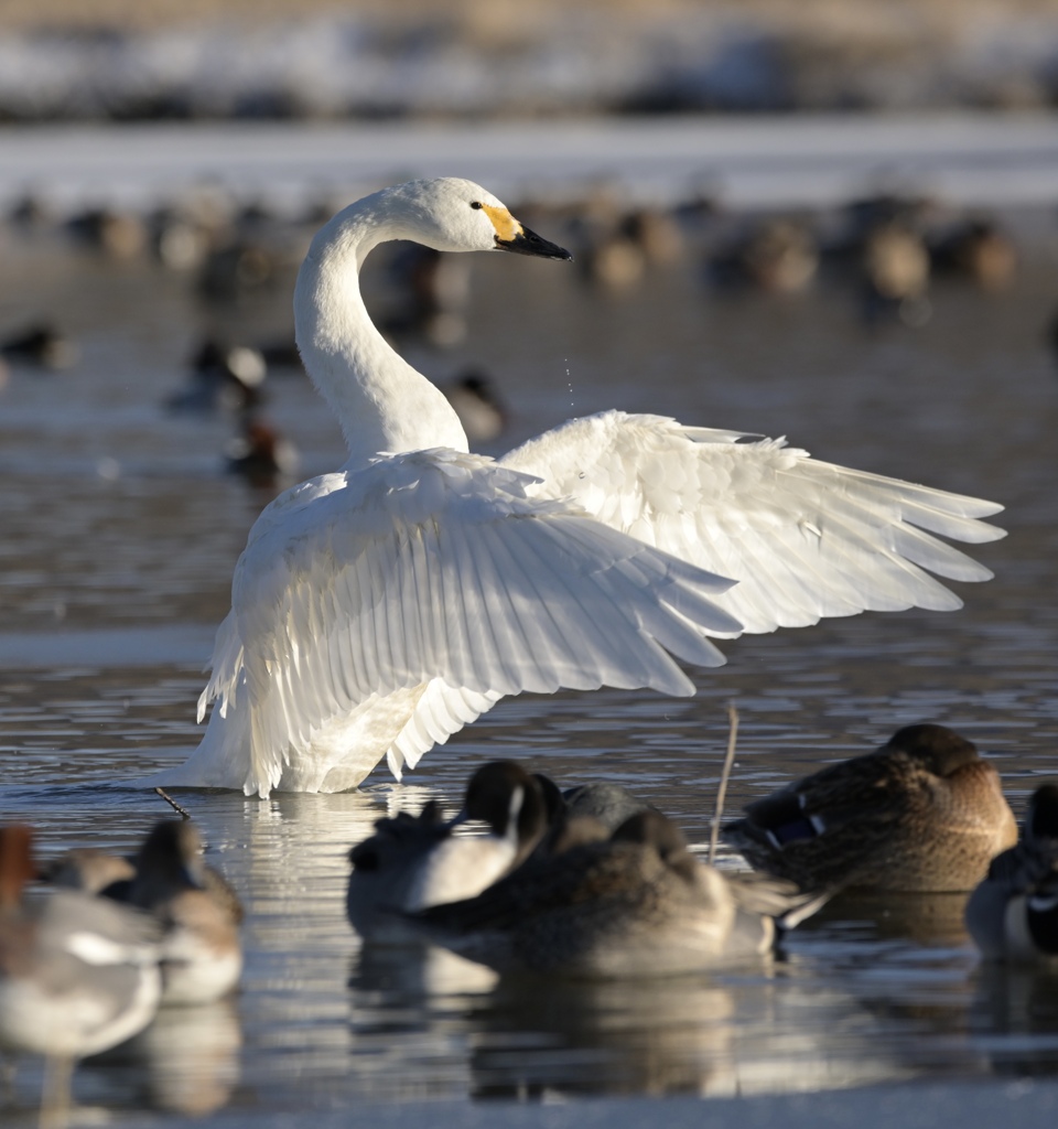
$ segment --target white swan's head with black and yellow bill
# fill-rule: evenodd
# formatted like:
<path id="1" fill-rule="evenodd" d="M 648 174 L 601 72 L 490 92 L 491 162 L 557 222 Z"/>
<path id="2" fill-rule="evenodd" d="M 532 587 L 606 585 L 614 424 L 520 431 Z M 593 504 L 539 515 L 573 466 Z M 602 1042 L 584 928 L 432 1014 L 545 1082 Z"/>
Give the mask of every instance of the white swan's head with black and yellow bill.
<path id="1" fill-rule="evenodd" d="M 396 238 L 434 251 L 513 251 L 541 259 L 572 259 L 517 220 L 508 207 L 473 181 L 442 176 L 383 189 L 380 203 L 391 217 Z"/>

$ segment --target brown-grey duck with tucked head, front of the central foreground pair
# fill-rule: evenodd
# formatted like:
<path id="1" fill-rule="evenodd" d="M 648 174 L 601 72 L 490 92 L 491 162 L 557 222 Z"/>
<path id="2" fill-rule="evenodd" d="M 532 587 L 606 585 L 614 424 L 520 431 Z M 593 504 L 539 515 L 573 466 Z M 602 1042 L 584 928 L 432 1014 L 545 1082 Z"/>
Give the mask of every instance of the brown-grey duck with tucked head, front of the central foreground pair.
<path id="1" fill-rule="evenodd" d="M 671 820 L 645 811 L 608 839 L 529 863 L 476 898 L 412 920 L 501 974 L 608 979 L 758 962 L 781 928 L 823 900 L 700 863 Z"/>

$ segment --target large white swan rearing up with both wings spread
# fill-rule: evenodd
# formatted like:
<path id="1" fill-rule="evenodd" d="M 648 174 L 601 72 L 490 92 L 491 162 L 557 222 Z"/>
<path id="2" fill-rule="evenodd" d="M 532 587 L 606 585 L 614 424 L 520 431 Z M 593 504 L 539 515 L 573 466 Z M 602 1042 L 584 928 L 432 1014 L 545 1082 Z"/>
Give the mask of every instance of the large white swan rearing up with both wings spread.
<path id="1" fill-rule="evenodd" d="M 383 189 L 317 234 L 298 347 L 350 458 L 257 519 L 199 701 L 200 720 L 215 701 L 205 736 L 150 782 L 337 791 L 383 756 L 399 777 L 504 694 L 690 694 L 671 655 L 720 665 L 706 636 L 955 609 L 925 569 L 991 575 L 931 534 L 1000 537 L 978 518 L 1002 507 L 783 440 L 611 411 L 499 462 L 468 454 L 444 396 L 368 317 L 358 273 L 387 239 L 570 257 L 453 178 Z"/>

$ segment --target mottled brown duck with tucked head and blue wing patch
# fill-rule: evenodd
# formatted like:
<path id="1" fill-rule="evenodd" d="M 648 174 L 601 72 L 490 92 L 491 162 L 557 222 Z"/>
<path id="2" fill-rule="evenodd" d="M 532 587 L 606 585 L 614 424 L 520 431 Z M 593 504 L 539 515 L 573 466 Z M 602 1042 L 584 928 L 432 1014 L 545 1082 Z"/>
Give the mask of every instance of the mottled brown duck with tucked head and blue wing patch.
<path id="1" fill-rule="evenodd" d="M 1017 838 L 994 765 L 943 725 L 756 799 L 723 826 L 758 870 L 803 889 L 969 891 Z"/>

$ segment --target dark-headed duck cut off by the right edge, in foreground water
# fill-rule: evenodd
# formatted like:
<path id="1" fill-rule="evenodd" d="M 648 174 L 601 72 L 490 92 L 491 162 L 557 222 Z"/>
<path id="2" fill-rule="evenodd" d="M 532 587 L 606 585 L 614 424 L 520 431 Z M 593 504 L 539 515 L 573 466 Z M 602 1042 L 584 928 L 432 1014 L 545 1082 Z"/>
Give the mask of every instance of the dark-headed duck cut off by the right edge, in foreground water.
<path id="1" fill-rule="evenodd" d="M 1058 964 L 1058 785 L 1032 794 L 1021 841 L 993 859 L 966 922 L 987 961 Z"/>

